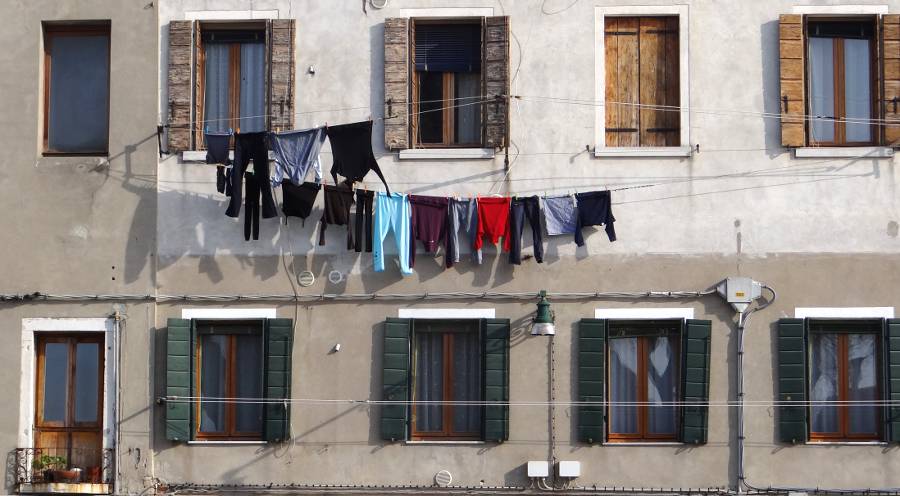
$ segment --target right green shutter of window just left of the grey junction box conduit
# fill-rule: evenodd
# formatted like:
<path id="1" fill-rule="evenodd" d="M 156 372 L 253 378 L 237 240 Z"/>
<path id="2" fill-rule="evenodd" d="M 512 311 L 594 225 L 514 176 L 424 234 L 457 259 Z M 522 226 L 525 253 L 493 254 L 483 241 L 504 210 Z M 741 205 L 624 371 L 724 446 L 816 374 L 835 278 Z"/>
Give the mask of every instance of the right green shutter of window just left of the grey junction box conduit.
<path id="1" fill-rule="evenodd" d="M 681 442 L 706 444 L 709 427 L 709 355 L 712 322 L 688 319 L 682 336 Z"/>

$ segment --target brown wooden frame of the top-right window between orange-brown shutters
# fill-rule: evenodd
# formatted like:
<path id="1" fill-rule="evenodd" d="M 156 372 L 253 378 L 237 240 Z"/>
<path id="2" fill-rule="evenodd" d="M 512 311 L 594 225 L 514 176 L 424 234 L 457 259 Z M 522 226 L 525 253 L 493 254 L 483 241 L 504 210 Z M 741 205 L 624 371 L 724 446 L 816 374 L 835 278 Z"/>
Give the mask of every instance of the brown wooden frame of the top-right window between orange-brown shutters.
<path id="1" fill-rule="evenodd" d="M 879 60 L 878 60 L 878 22 L 875 19 L 872 19 L 871 16 L 865 16 L 852 18 L 852 17 L 838 17 L 838 18 L 828 18 L 828 17 L 815 17 L 814 21 L 822 21 L 822 22 L 872 22 L 873 23 L 873 35 L 868 39 L 869 41 L 869 84 L 871 95 L 871 101 L 869 102 L 869 115 L 872 120 L 879 119 L 878 112 L 878 71 L 879 71 Z M 804 60 L 807 61 L 805 67 L 805 90 L 806 94 L 809 95 L 806 98 L 806 114 L 810 116 L 810 120 L 807 120 L 806 124 L 806 142 L 809 146 L 814 147 L 831 147 L 831 148 L 840 148 L 840 147 L 858 147 L 858 146 L 874 146 L 879 142 L 878 133 L 879 127 L 874 122 L 869 125 L 870 128 L 870 136 L 872 139 L 869 141 L 847 141 L 847 123 L 842 122 L 842 119 L 847 118 L 847 102 L 846 102 L 846 92 L 845 90 L 845 65 L 844 65 L 844 44 L 843 41 L 848 38 L 842 37 L 820 37 L 820 38 L 831 38 L 833 43 L 832 48 L 832 56 L 834 74 L 832 77 L 834 78 L 834 140 L 832 141 L 816 141 L 813 139 L 812 135 L 812 76 L 809 73 L 809 40 L 813 38 L 809 34 L 809 16 L 803 17 L 803 31 L 805 36 L 804 40 Z"/>

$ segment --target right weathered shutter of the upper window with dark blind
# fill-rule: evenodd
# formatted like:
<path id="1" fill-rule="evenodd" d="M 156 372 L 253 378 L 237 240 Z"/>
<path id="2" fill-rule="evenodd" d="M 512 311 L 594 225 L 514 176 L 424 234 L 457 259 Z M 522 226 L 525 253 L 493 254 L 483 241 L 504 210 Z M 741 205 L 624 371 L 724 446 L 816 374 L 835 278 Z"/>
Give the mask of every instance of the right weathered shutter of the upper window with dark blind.
<path id="1" fill-rule="evenodd" d="M 484 146 L 509 142 L 509 17 L 484 19 Z"/>

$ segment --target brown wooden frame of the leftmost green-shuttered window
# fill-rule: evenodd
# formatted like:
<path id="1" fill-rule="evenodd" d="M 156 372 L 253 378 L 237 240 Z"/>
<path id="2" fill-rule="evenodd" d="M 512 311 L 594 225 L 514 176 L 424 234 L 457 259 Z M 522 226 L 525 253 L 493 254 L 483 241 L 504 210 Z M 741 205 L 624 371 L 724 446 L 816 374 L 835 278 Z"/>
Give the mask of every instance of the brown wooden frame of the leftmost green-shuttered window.
<path id="1" fill-rule="evenodd" d="M 261 441 L 263 439 L 263 424 L 265 420 L 261 420 L 259 427 L 259 431 L 252 432 L 242 432 L 238 431 L 235 428 L 236 422 L 236 403 L 234 402 L 225 402 L 224 405 L 224 423 L 225 430 L 219 432 L 201 432 L 200 430 L 200 420 L 202 418 L 202 401 L 200 397 L 202 396 L 201 391 L 201 379 L 203 377 L 203 337 L 204 336 L 227 336 L 228 337 L 228 346 L 225 360 L 225 397 L 226 398 L 236 398 L 237 397 L 237 386 L 236 379 L 238 370 L 240 368 L 240 364 L 237 363 L 237 336 L 239 335 L 252 335 L 256 336 L 260 340 L 260 345 L 264 345 L 263 342 L 263 329 L 262 325 L 259 322 L 255 321 L 233 321 L 229 322 L 229 324 L 237 324 L 237 325 L 250 325 L 256 327 L 253 332 L 217 332 L 215 334 L 205 334 L 198 333 L 197 335 L 197 343 L 195 356 L 196 359 L 194 361 L 194 369 L 197 371 L 195 376 L 194 390 L 197 391 L 197 399 L 194 403 L 194 438 L 201 441 Z M 198 323 L 198 326 L 203 326 L 202 322 Z M 262 370 L 260 370 L 260 382 L 264 382 L 265 379 L 265 359 L 262 358 L 261 361 Z"/>

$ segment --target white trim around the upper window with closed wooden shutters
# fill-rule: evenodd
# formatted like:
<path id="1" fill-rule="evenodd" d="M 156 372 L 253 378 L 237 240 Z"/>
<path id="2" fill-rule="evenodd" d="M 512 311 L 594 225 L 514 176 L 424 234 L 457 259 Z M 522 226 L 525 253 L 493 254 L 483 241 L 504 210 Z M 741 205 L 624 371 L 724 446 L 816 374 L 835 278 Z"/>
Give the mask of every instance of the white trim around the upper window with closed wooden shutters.
<path id="1" fill-rule="evenodd" d="M 654 15 L 677 15 L 678 16 L 678 58 L 679 58 L 679 81 L 678 89 L 680 92 L 679 101 L 681 102 L 680 126 L 681 126 L 681 144 L 682 146 L 661 147 L 663 149 L 672 149 L 668 153 L 660 152 L 656 155 L 630 155 L 635 157 L 685 157 L 690 156 L 691 151 L 691 126 L 690 126 L 690 7 L 688 5 L 633 5 L 633 6 L 616 6 L 616 7 L 594 7 L 594 50 L 596 50 L 596 61 L 594 65 L 595 79 L 595 95 L 594 99 L 598 103 L 606 101 L 606 50 L 604 28 L 607 17 L 638 17 L 638 16 L 654 16 Z M 606 146 L 606 107 L 605 105 L 595 105 L 595 122 L 596 129 L 596 147 L 594 149 L 595 157 L 622 157 L 629 156 L 627 154 L 618 153 L 610 154 L 615 147 Z M 684 155 L 685 150 L 687 155 Z M 627 148 L 626 150 L 633 150 Z"/>

